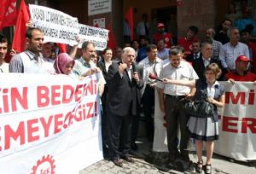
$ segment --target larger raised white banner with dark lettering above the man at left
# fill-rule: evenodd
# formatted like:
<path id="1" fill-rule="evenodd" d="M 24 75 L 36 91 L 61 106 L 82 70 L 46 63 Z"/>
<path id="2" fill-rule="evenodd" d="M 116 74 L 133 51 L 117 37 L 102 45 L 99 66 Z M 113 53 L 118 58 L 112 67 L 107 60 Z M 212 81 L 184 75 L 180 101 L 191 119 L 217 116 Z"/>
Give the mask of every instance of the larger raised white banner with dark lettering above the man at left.
<path id="1" fill-rule="evenodd" d="M 78 19 L 55 9 L 29 4 L 32 26 L 44 32 L 44 42 L 77 44 Z"/>

